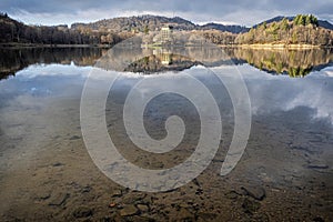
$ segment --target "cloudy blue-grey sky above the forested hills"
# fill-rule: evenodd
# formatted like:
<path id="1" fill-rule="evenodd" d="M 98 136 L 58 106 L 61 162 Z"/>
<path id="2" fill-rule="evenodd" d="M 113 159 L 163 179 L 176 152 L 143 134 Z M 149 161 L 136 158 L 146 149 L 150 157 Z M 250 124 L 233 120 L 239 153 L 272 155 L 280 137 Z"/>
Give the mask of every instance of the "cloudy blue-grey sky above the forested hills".
<path id="1" fill-rule="evenodd" d="M 194 23 L 253 26 L 275 16 L 313 13 L 333 23 L 333 0 L 0 0 L 0 11 L 30 24 L 71 24 L 139 14 Z"/>

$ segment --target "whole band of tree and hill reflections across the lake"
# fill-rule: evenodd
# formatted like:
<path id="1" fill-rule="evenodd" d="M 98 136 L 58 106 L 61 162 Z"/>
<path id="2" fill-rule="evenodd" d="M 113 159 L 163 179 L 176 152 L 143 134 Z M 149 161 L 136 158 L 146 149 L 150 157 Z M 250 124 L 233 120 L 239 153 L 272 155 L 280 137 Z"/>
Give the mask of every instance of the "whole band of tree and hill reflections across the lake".
<path id="1" fill-rule="evenodd" d="M 127 44 L 129 42 L 127 42 Z M 114 47 L 109 50 L 108 53 L 105 53 L 107 50 L 98 48 L 0 49 L 0 79 L 13 75 L 17 71 L 36 63 L 70 64 L 73 62 L 77 65 L 94 65 L 97 60 L 102 56 L 102 60 L 98 62 L 97 67 L 107 70 L 124 71 L 124 68 L 129 64 L 142 58 L 150 57 L 154 54 L 154 50 L 158 50 L 141 49 L 140 46 L 141 41 L 123 47 Z M 171 53 L 188 58 L 189 63 L 182 61 L 181 67 L 191 67 L 194 64 L 193 62 L 200 62 L 206 67 L 248 62 L 258 69 L 273 73 L 285 73 L 291 77 L 304 77 L 313 70 L 320 70 L 329 65 L 333 61 L 332 49 L 263 50 L 241 48 L 221 49 L 199 46 L 170 48 L 167 54 Z M 159 59 L 159 53 L 157 56 L 154 59 Z M 149 59 L 150 64 L 140 64 L 140 62 L 139 64 L 145 65 L 148 70 L 159 70 L 159 65 L 150 69 L 152 64 L 151 59 L 153 58 Z M 176 61 L 176 58 L 170 59 Z M 142 61 L 147 60 L 148 59 Z M 160 60 L 162 61 L 161 58 Z M 174 63 L 174 61 L 172 62 Z M 140 65 L 138 70 L 142 68 L 140 68 Z M 128 71 L 130 69 L 128 69 Z"/>

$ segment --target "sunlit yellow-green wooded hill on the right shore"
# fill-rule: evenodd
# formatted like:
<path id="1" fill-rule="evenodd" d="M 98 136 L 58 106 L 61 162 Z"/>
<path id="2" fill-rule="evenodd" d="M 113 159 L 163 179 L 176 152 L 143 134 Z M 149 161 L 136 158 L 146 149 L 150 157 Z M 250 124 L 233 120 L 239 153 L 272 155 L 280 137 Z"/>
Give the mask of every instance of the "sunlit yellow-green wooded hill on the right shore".
<path id="1" fill-rule="evenodd" d="M 333 46 L 332 30 L 319 27 L 317 19 L 312 16 L 297 14 L 292 21 L 284 18 L 271 23 L 263 22 L 249 32 L 235 38 L 238 44 L 283 43 Z"/>

